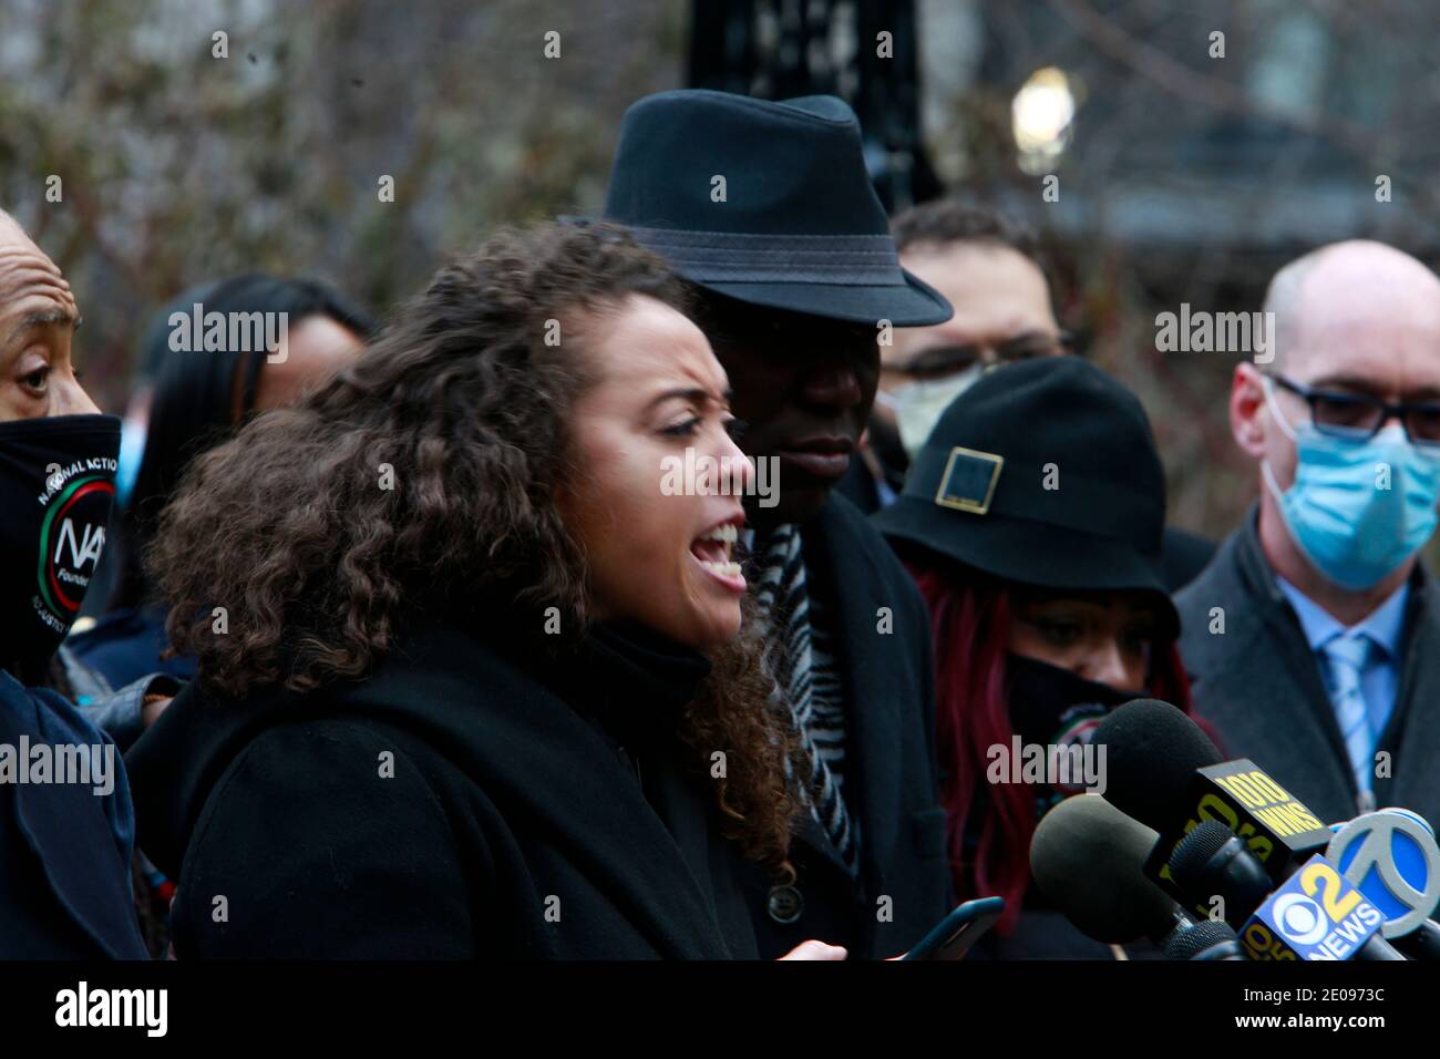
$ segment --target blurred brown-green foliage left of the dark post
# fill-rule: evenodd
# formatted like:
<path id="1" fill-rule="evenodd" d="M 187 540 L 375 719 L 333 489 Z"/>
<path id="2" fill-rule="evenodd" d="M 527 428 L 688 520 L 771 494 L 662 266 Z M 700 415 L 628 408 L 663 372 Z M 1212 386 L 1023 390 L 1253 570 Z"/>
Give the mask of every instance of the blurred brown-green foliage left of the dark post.
<path id="1" fill-rule="evenodd" d="M 310 274 L 384 310 L 498 222 L 598 205 L 684 27 L 683 3 L 0 0 L 0 203 L 76 290 L 114 409 L 193 282 Z"/>

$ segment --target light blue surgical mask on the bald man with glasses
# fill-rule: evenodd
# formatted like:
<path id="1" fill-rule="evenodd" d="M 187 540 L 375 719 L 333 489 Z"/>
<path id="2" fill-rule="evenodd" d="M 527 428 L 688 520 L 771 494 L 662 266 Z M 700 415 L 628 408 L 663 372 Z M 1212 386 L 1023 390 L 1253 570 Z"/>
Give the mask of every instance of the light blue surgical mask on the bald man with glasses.
<path id="1" fill-rule="evenodd" d="M 1264 380 L 1270 415 L 1293 441 L 1295 484 L 1280 491 L 1270 461 L 1260 464 L 1296 546 L 1322 575 L 1362 589 L 1400 569 L 1434 533 L 1440 454 L 1410 444 L 1390 426 L 1369 439 L 1290 428 Z"/>

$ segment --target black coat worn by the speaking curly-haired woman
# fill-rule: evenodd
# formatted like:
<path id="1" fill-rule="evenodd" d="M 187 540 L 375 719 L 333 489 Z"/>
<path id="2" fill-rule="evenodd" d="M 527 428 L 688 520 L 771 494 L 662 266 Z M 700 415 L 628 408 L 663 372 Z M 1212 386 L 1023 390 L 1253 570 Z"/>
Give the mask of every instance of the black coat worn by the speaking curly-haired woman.
<path id="1" fill-rule="evenodd" d="M 420 622 L 359 683 L 183 692 L 127 758 L 177 955 L 756 957 L 674 742 L 708 663 L 602 633 L 547 671 L 504 633 Z"/>

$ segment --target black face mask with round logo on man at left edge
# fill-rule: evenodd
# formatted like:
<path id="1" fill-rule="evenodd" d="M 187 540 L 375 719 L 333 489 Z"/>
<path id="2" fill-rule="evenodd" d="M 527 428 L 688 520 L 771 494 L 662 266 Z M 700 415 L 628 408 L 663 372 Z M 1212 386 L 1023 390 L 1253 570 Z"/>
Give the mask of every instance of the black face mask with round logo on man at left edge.
<path id="1" fill-rule="evenodd" d="M 120 419 L 0 422 L 0 664 L 36 670 L 79 614 L 115 499 Z"/>

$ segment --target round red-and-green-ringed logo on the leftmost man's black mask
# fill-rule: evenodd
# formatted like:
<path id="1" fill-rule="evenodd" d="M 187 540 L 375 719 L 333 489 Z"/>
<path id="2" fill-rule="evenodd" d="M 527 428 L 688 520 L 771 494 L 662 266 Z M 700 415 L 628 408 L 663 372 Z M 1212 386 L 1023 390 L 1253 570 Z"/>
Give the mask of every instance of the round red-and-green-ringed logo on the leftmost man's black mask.
<path id="1" fill-rule="evenodd" d="M 40 533 L 35 609 L 40 621 L 65 633 L 89 588 L 105 548 L 105 524 L 115 497 L 115 460 L 92 457 L 46 468 L 39 496 Z"/>

